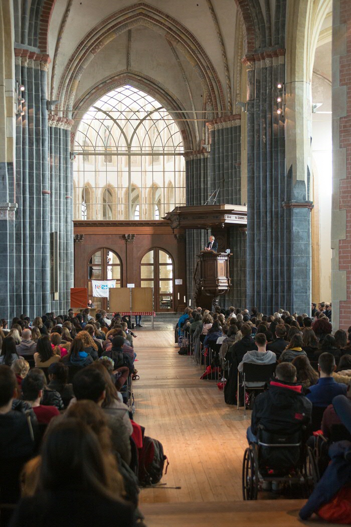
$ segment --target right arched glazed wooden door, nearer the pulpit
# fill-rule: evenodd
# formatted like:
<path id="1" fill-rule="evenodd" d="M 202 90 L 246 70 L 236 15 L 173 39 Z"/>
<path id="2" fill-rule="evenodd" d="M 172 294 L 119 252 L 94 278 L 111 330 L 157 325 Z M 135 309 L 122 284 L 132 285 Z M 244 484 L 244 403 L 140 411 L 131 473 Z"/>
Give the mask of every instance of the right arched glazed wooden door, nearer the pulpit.
<path id="1" fill-rule="evenodd" d="M 141 287 L 154 288 L 155 311 L 174 311 L 174 262 L 164 250 L 154 247 L 142 258 Z"/>

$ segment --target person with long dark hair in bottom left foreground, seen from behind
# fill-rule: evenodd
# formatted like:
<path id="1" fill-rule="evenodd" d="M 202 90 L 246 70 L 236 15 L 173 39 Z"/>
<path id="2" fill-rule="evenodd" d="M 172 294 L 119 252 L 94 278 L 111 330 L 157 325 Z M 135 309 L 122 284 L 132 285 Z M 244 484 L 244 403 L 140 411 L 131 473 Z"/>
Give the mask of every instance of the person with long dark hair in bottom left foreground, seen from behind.
<path id="1" fill-rule="evenodd" d="M 119 497 L 108 464 L 88 425 L 73 417 L 58 422 L 43 444 L 34 495 L 19 502 L 12 527 L 134 527 L 134 509 Z"/>

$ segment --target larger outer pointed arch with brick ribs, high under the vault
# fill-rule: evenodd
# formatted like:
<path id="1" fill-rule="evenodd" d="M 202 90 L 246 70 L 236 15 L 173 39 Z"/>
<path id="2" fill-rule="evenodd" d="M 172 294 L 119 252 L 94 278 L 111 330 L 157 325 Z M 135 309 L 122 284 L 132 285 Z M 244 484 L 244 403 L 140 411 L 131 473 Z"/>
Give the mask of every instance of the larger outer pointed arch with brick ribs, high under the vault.
<path id="1" fill-rule="evenodd" d="M 193 65 L 210 101 L 211 112 L 218 114 L 226 109 L 222 83 L 197 38 L 172 16 L 154 6 L 139 2 L 99 22 L 75 48 L 59 81 L 56 94 L 60 101 L 59 110 L 68 113 L 72 110 L 79 79 L 92 58 L 118 35 L 138 25 L 145 25 L 161 33 Z"/>

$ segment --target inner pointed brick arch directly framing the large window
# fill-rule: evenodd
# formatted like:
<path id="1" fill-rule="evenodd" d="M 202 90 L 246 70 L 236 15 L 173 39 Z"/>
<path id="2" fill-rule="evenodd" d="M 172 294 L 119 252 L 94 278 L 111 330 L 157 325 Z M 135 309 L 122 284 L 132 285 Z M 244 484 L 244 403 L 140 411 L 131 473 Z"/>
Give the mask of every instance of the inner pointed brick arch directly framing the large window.
<path id="1" fill-rule="evenodd" d="M 92 87 L 91 90 L 84 93 L 76 102 L 73 109 L 74 124 L 72 126 L 71 147 L 74 150 L 74 137 L 78 126 L 81 122 L 80 116 L 88 111 L 91 106 L 101 99 L 103 95 L 109 91 L 115 90 L 118 87 L 130 84 L 131 86 L 152 95 L 156 101 L 164 106 L 173 119 L 179 119 L 179 114 L 174 114 L 172 111 L 184 111 L 182 103 L 177 97 L 166 91 L 166 88 L 159 82 L 151 79 L 151 77 L 141 76 L 137 72 L 122 71 L 118 72 L 112 77 L 106 77 L 101 82 Z M 184 142 L 184 150 L 196 150 L 196 135 L 193 128 L 192 121 L 188 121 L 189 115 L 184 111 L 182 115 L 183 121 L 176 121 L 179 131 L 182 134 Z"/>

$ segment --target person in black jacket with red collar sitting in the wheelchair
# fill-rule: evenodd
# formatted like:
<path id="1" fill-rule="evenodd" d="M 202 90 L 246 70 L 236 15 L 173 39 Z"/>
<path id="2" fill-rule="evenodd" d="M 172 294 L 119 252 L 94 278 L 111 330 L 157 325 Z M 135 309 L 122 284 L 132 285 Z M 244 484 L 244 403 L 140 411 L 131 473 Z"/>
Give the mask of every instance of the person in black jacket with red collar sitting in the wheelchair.
<path id="1" fill-rule="evenodd" d="M 257 443 L 259 426 L 272 433 L 295 434 L 309 426 L 311 415 L 312 403 L 303 395 L 302 385 L 296 383 L 295 366 L 278 364 L 268 390 L 255 399 L 247 440 Z"/>

